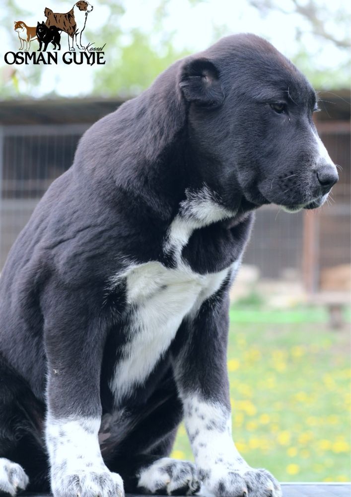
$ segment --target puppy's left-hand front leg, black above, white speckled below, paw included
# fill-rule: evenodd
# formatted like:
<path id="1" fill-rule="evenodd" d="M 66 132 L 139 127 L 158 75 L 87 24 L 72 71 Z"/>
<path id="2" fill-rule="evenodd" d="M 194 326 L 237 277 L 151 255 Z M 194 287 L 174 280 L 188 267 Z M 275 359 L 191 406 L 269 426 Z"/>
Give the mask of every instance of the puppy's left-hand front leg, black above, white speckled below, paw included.
<path id="1" fill-rule="evenodd" d="M 99 448 L 104 333 L 89 314 L 78 294 L 45 294 L 46 442 L 54 497 L 124 495 L 121 477 L 107 469 Z"/>

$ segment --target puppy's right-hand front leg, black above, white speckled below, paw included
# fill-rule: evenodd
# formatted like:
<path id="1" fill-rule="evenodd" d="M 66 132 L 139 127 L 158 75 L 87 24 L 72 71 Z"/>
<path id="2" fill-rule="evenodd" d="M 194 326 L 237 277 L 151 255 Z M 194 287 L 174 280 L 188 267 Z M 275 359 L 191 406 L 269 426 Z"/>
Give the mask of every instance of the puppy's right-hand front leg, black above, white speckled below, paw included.
<path id="1" fill-rule="evenodd" d="M 280 497 L 276 479 L 252 469 L 231 432 L 226 368 L 228 289 L 221 288 L 183 322 L 173 344 L 173 367 L 184 420 L 202 481 L 200 495 Z"/>

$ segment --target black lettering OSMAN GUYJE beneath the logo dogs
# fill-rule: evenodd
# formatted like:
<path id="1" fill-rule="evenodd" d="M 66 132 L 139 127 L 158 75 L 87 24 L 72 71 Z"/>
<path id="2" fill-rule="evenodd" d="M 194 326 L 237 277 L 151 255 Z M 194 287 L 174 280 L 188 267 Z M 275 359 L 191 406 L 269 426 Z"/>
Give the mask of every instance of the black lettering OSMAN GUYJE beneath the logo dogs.
<path id="1" fill-rule="evenodd" d="M 105 44 L 106 45 L 106 44 Z M 101 48 L 86 47 L 88 51 L 85 52 L 64 52 L 62 54 L 62 61 L 64 64 L 105 64 L 104 52 L 102 51 L 105 45 Z M 6 52 L 4 56 L 6 64 L 21 65 L 21 64 L 57 64 L 58 52 Z"/>

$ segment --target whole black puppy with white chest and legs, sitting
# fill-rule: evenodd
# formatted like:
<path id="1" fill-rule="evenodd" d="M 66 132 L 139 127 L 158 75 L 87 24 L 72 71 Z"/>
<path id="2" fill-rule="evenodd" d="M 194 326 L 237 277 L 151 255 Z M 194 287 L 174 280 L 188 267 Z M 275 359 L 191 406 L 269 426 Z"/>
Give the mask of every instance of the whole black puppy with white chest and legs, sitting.
<path id="1" fill-rule="evenodd" d="M 230 36 L 94 124 L 0 284 L 0 489 L 281 496 L 231 435 L 228 292 L 274 202 L 337 181 L 316 94 L 272 45 Z M 196 463 L 168 457 L 181 419 Z M 49 461 L 47 460 L 47 454 Z"/>

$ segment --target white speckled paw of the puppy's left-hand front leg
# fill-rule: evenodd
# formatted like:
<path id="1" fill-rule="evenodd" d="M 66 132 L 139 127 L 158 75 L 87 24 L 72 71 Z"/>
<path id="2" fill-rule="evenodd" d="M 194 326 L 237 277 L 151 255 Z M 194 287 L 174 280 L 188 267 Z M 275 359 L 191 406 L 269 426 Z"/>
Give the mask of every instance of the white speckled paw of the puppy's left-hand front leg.
<path id="1" fill-rule="evenodd" d="M 107 468 L 62 474 L 52 481 L 51 487 L 54 497 L 124 497 L 122 478 Z"/>

